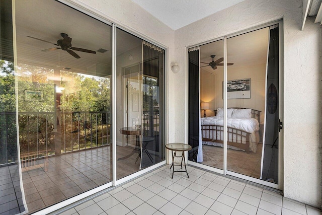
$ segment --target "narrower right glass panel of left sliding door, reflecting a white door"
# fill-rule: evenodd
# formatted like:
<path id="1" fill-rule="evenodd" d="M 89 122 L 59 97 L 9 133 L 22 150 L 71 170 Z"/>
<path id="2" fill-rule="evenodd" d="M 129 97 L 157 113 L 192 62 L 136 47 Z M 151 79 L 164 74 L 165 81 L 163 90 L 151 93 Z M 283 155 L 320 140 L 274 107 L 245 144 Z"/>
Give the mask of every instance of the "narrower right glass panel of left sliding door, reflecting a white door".
<path id="1" fill-rule="evenodd" d="M 165 159 L 164 56 L 163 49 L 116 29 L 117 179 Z"/>

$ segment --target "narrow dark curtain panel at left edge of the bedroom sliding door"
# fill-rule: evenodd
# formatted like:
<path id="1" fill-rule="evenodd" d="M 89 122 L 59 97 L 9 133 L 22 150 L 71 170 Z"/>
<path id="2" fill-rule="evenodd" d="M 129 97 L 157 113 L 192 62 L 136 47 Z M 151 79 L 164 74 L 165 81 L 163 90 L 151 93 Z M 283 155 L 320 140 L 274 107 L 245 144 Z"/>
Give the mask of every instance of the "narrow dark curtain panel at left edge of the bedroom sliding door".
<path id="1" fill-rule="evenodd" d="M 189 52 L 189 161 L 197 162 L 199 146 L 199 50 Z"/>

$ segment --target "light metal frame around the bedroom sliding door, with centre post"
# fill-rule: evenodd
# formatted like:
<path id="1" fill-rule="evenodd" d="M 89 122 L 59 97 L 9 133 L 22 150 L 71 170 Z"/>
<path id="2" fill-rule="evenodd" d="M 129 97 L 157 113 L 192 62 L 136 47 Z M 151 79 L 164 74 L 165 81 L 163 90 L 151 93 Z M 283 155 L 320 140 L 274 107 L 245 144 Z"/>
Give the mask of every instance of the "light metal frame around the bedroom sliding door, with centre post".
<path id="1" fill-rule="evenodd" d="M 283 32 L 283 19 L 282 18 L 278 18 L 276 20 L 272 20 L 272 21 L 269 21 L 269 22 L 264 22 L 262 24 L 258 24 L 254 27 L 251 27 L 251 28 L 247 28 L 247 29 L 243 29 L 243 30 L 240 30 L 240 31 L 236 31 L 234 33 L 231 33 L 231 34 L 227 34 L 227 35 L 223 35 L 223 36 L 220 36 L 220 37 L 217 37 L 217 38 L 214 38 L 214 39 L 211 39 L 211 40 L 208 40 L 208 41 L 205 41 L 205 42 L 202 42 L 202 43 L 198 43 L 198 44 L 195 44 L 195 45 L 191 45 L 191 46 L 187 46 L 186 47 L 186 65 L 187 65 L 187 68 L 189 68 L 189 54 L 188 54 L 188 49 L 189 48 L 193 48 L 193 47 L 196 47 L 196 46 L 201 46 L 201 45 L 204 45 L 204 44 L 207 44 L 207 43 L 210 43 L 210 42 L 215 42 L 215 41 L 218 41 L 220 39 L 224 39 L 224 84 L 226 83 L 227 81 L 227 65 L 226 65 L 226 62 L 225 62 L 225 59 L 226 59 L 226 40 L 228 38 L 231 38 L 231 37 L 234 37 L 234 36 L 238 36 L 238 35 L 241 35 L 241 34 L 245 34 L 245 33 L 249 33 L 251 31 L 256 31 L 256 30 L 259 30 L 259 29 L 262 29 L 262 28 L 266 28 L 266 27 L 269 27 L 269 26 L 272 26 L 272 25 L 276 25 L 278 24 L 279 26 L 279 119 L 281 121 L 284 121 L 284 62 L 283 62 L 283 59 L 284 59 L 284 40 L 283 40 L 283 35 L 284 35 L 284 32 Z M 186 113 L 185 113 L 185 118 L 186 118 L 186 141 L 188 142 L 188 139 L 189 139 L 189 118 L 188 118 L 188 111 L 189 111 L 189 75 L 187 73 L 187 76 L 186 76 Z M 224 111 L 226 111 L 227 109 L 227 96 L 224 95 Z M 224 113 L 224 116 L 226 116 L 226 114 Z M 226 118 L 226 117 L 224 117 Z M 226 119 L 224 119 L 224 123 L 226 122 Z M 284 142 L 284 130 L 280 130 L 279 132 L 279 138 L 278 138 L 278 144 L 279 144 L 279 148 L 278 148 L 278 184 L 274 184 L 274 183 L 271 183 L 271 182 L 267 182 L 267 181 L 264 181 L 264 180 L 261 180 L 261 179 L 257 179 L 257 178 L 253 178 L 253 177 L 250 177 L 250 176 L 245 176 L 243 174 L 239 174 L 239 173 L 235 173 L 235 172 L 232 172 L 232 171 L 229 171 L 227 170 L 227 150 L 226 147 L 227 147 L 227 140 L 225 139 L 224 140 L 224 155 L 223 155 L 223 170 L 221 169 L 217 169 L 215 167 L 210 167 L 210 166 L 207 166 L 207 165 L 204 165 L 204 164 L 200 164 L 200 163 L 197 163 L 197 162 L 193 162 L 193 161 L 188 161 L 188 156 L 187 156 L 187 163 L 191 166 L 195 166 L 195 167 L 199 167 L 199 168 L 203 168 L 203 169 L 206 169 L 206 170 L 209 170 L 209 171 L 212 171 L 212 172 L 216 172 L 216 173 L 219 173 L 219 174 L 223 174 L 223 175 L 230 175 L 230 176 L 235 176 L 235 177 L 238 177 L 240 179 L 244 179 L 244 180 L 248 180 L 248 181 L 251 181 L 251 182 L 255 182 L 255 183 L 258 183 L 258 184 L 261 184 L 261 185 L 265 185 L 265 186 L 268 186 L 268 187 L 272 187 L 272 188 L 275 188 L 275 189 L 279 189 L 279 190 L 283 190 L 283 178 L 284 178 L 284 175 L 283 175 L 283 167 L 284 167 L 284 163 L 283 163 L 283 142 Z"/>

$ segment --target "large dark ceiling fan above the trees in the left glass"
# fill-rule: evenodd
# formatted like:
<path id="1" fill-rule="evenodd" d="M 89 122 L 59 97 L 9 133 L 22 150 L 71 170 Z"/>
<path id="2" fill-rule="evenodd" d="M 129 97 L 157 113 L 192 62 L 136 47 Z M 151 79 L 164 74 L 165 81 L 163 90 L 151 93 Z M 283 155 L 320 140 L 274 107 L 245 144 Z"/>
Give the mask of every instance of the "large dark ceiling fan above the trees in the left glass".
<path id="1" fill-rule="evenodd" d="M 56 46 L 60 46 L 60 47 L 44 49 L 44 50 L 41 50 L 41 51 L 54 51 L 54 50 L 57 50 L 57 49 L 62 49 L 64 51 L 67 51 L 70 55 L 72 55 L 73 57 L 75 57 L 77 59 L 81 58 L 81 57 L 78 54 L 76 54 L 74 51 L 72 51 L 72 50 L 83 51 L 83 52 L 87 52 L 87 53 L 96 54 L 96 51 L 92 51 L 92 50 L 84 49 L 84 48 L 72 47 L 71 46 L 71 38 L 68 37 L 68 34 L 60 33 L 60 36 L 63 39 L 57 40 L 57 43 L 52 43 L 52 42 L 42 40 L 42 39 L 39 39 L 39 38 L 36 38 L 36 37 L 31 37 L 31 36 L 27 36 L 27 37 L 30 37 L 30 38 L 33 38 L 33 39 L 36 39 L 36 40 L 40 40 L 40 41 L 43 41 L 43 42 L 47 42 L 47 43 L 50 43 L 50 44 L 53 44 L 53 45 L 56 45 Z"/>

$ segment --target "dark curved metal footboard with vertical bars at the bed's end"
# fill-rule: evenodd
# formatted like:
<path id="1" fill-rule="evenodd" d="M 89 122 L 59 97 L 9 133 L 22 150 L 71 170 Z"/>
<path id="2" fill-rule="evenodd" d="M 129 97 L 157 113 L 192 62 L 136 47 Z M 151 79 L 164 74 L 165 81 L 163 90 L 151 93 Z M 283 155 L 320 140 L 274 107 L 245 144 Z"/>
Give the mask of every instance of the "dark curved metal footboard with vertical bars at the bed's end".
<path id="1" fill-rule="evenodd" d="M 219 142 L 223 144 L 223 126 L 201 125 L 203 141 Z M 250 134 L 247 131 L 227 127 L 227 145 L 250 152 Z"/>

